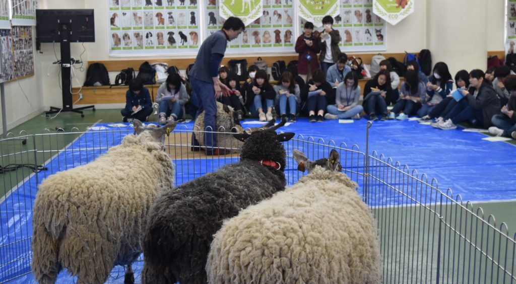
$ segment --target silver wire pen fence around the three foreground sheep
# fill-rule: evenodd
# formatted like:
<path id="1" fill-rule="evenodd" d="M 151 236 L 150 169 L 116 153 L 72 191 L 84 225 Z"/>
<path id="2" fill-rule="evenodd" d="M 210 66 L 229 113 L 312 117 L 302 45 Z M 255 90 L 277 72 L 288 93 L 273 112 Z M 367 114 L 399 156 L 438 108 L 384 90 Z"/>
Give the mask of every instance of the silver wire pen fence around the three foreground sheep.
<path id="1" fill-rule="evenodd" d="M 26 145 L 12 135 L 0 140 L 4 169 L 9 164 L 39 165 L 6 171 L 1 177 L 0 282 L 30 274 L 32 210 L 39 183 L 53 173 L 93 161 L 131 133 L 131 128 L 72 129 L 21 133 Z M 238 161 L 238 154 L 214 157 L 192 152 L 191 134 L 178 126 L 165 140 L 176 165 L 176 185 Z M 504 223 L 484 216 L 481 208 L 473 209 L 451 189 L 440 189 L 436 179 L 371 151 L 368 139 L 359 147 L 297 135 L 283 144 L 288 185 L 303 174 L 297 171 L 294 149 L 311 160 L 327 157 L 331 149 L 338 151 L 344 173 L 358 183 L 362 200 L 376 219 L 384 283 L 516 283 L 516 236 L 509 236 Z"/>

